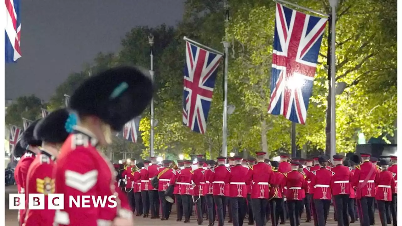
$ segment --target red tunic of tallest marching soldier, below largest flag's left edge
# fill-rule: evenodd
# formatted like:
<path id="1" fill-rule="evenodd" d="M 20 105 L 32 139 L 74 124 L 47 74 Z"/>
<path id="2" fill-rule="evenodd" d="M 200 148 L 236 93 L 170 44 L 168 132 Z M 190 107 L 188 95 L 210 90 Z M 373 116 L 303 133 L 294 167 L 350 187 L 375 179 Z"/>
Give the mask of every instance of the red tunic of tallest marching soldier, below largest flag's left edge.
<path id="1" fill-rule="evenodd" d="M 267 199 L 269 197 L 269 180 L 272 175 L 272 167 L 265 162 L 258 162 L 250 166 L 247 183 L 252 185 L 252 199 Z"/>

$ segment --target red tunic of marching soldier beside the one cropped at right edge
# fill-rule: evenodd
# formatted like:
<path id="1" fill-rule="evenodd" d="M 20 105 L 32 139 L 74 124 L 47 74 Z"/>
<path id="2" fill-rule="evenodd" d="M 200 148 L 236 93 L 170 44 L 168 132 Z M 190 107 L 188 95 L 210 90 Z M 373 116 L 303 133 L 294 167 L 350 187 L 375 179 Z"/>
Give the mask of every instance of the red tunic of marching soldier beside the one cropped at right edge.
<path id="1" fill-rule="evenodd" d="M 375 186 L 378 186 L 375 199 L 392 201 L 392 191 L 395 190 L 395 180 L 392 172 L 388 170 L 381 171 L 379 177 L 375 179 Z"/>

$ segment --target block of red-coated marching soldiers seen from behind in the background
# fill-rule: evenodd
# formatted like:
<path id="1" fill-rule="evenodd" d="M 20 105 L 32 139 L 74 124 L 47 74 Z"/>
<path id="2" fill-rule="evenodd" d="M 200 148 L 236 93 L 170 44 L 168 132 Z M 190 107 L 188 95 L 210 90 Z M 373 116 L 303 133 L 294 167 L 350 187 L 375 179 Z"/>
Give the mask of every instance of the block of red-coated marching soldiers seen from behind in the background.
<path id="1" fill-rule="evenodd" d="M 386 160 L 379 166 L 373 164 L 375 158 L 367 153 L 362 153 L 363 162 L 353 167 L 342 155 L 334 155 L 330 167 L 325 156 L 306 160 L 304 166 L 295 158 L 289 163 L 287 154 L 281 154 L 281 162 L 267 161 L 265 154 L 256 152 L 256 161 L 228 158 L 229 167 L 225 157 L 215 162 L 205 161 L 203 155 L 197 155 L 196 167 L 191 160 L 178 160 L 178 165 L 163 160 L 158 165 L 156 157 L 144 160 L 144 166 L 135 166 L 131 159 L 122 174 L 125 191 L 136 216 L 148 218 L 151 211 L 151 219 L 168 220 L 172 203 L 176 203 L 178 222 L 184 215 L 188 223 L 195 205 L 199 225 L 204 214 L 209 226 L 215 224 L 215 216 L 218 226 L 224 225 L 228 208 L 229 223 L 234 226 L 243 225 L 246 214 L 250 225 L 255 220 L 257 226 L 263 226 L 271 220 L 277 226 L 279 219 L 280 224 L 289 219 L 297 226 L 306 206 L 306 222 L 313 216 L 314 225 L 324 226 L 332 199 L 339 226 L 349 225 L 349 217 L 352 223 L 360 218 L 361 225 L 374 225 L 376 200 L 381 224 L 390 224 L 390 210 L 396 225 L 396 156 L 390 156 L 388 168 Z"/>

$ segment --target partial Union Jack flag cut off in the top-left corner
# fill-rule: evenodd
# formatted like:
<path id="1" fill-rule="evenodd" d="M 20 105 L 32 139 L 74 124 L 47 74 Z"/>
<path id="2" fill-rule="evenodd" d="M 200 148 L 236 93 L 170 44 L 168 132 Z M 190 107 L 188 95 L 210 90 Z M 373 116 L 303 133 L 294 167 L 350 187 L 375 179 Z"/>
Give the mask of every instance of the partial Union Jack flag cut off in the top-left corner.
<path id="1" fill-rule="evenodd" d="M 5 0 L 6 27 L 5 27 L 5 62 L 13 63 L 21 57 L 21 15 L 20 0 Z"/>

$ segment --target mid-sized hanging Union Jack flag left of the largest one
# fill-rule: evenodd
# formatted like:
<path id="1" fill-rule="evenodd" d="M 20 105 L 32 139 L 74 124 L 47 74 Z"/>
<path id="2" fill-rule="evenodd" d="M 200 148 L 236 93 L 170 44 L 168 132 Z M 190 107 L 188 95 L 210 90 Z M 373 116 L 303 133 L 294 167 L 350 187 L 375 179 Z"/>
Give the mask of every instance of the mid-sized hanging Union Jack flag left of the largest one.
<path id="1" fill-rule="evenodd" d="M 205 134 L 217 68 L 222 55 L 186 42 L 184 67 L 183 124 Z"/>

